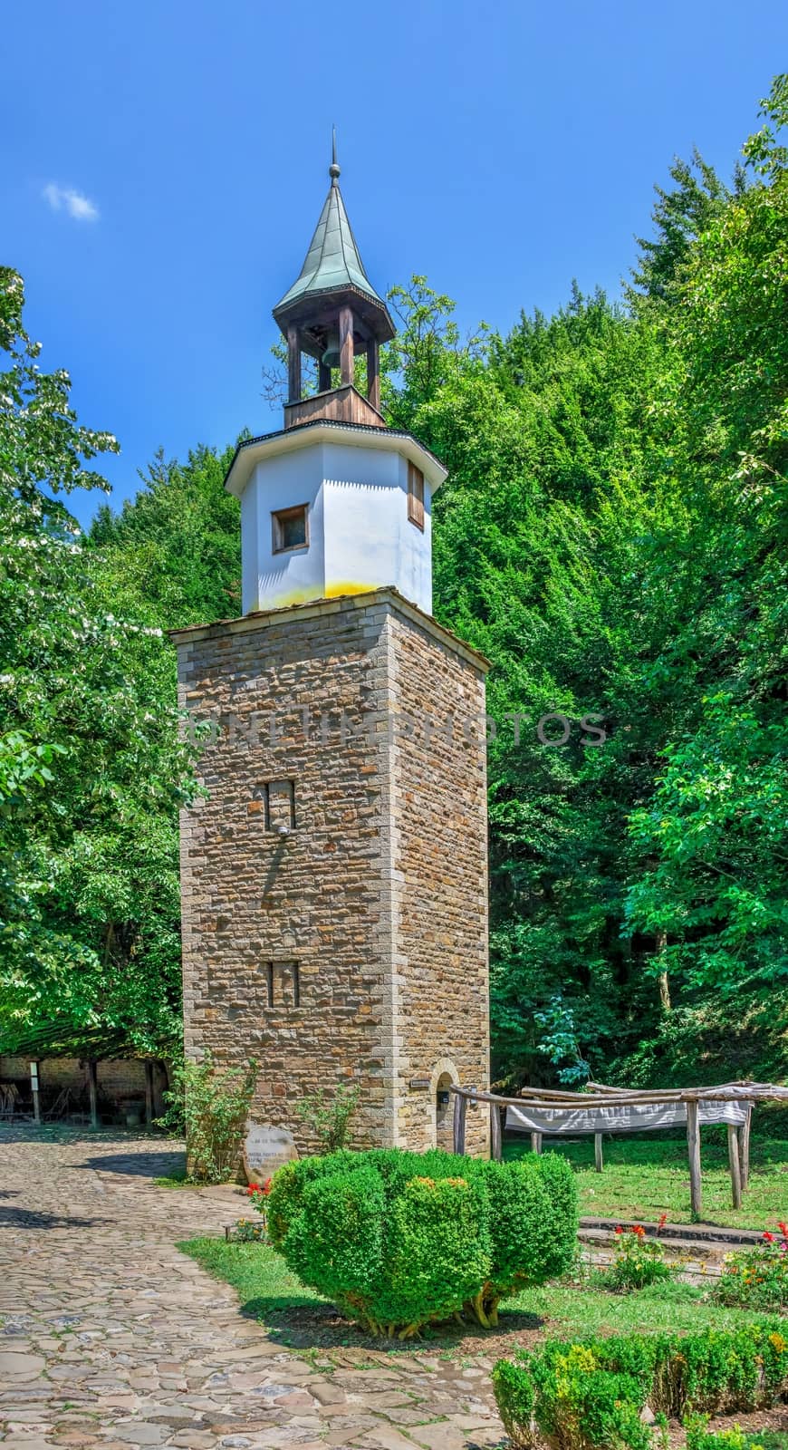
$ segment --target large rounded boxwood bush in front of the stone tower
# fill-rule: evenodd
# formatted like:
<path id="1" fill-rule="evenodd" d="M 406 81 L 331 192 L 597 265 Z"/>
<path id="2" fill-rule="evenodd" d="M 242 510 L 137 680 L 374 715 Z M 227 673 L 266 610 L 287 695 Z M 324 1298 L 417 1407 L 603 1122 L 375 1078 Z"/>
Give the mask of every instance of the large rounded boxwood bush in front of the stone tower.
<path id="1" fill-rule="evenodd" d="M 471 1317 L 569 1267 L 578 1209 L 556 1154 L 487 1163 L 374 1148 L 281 1167 L 267 1204 L 271 1243 L 303 1283 L 372 1334 Z"/>

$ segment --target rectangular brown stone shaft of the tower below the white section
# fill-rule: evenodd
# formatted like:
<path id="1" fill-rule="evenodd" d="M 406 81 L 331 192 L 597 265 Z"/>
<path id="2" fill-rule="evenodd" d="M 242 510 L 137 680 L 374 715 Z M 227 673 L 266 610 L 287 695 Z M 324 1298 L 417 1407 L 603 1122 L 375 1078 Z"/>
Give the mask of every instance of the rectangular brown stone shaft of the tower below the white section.
<path id="1" fill-rule="evenodd" d="M 408 709 L 430 699 L 436 670 L 446 702 L 453 679 L 455 696 L 459 689 L 478 703 L 481 671 L 452 650 L 450 637 L 439 647 L 429 621 L 414 626 L 417 618 L 391 590 L 378 590 L 175 637 L 181 706 L 193 719 L 222 722 L 200 763 L 207 796 L 181 822 L 187 1053 L 210 1048 L 227 1064 L 256 1057 L 252 1116 L 290 1127 L 301 1150 L 314 1137 L 297 1119 L 296 1099 L 340 1080 L 361 1086 L 356 1141 L 426 1143 L 432 1099 L 410 1088 L 411 1064 L 422 1073 L 429 1060 L 432 1072 L 446 1056 L 449 1019 L 462 1080 L 487 1082 L 487 998 L 484 1014 L 472 1008 L 472 1032 L 481 1032 L 474 1053 L 461 1041 L 461 977 L 446 970 L 462 960 L 462 990 L 487 970 L 484 777 L 478 767 L 468 774 L 462 754 L 449 768 L 442 757 L 435 771 L 424 757 L 410 782 L 414 767 L 393 726 L 400 696 Z M 395 679 L 403 650 L 406 676 L 413 671 L 404 689 Z M 416 815 L 413 790 L 424 796 Z M 468 796 L 462 806 L 458 792 Z M 452 819 L 465 829 L 477 808 L 481 825 L 458 856 L 456 842 L 449 848 Z M 453 818 L 443 819 L 449 809 Z M 450 861 L 437 858 L 437 840 L 458 861 L 449 887 Z M 414 874 L 420 906 L 403 895 Z M 472 929 L 465 916 L 475 918 Z M 430 945 L 417 947 L 424 929 L 433 931 Z M 469 1146 L 484 1151 L 472 1119 Z"/>

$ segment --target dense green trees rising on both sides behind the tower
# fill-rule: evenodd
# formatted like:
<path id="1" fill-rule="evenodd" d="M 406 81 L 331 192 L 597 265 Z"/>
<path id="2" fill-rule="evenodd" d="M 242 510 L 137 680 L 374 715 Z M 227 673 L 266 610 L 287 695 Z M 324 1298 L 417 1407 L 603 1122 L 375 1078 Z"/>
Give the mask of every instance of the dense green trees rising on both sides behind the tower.
<path id="1" fill-rule="evenodd" d="M 462 336 L 393 290 L 382 399 L 446 463 L 437 618 L 492 661 L 492 1035 L 501 1077 L 781 1072 L 785 867 L 788 81 L 745 167 L 658 188 L 621 303 Z M 61 502 L 116 447 L 0 341 L 3 1022 L 177 1032 L 167 628 L 239 610 L 230 452 L 156 457 L 90 536 Z M 569 722 L 562 744 L 539 721 Z M 80 972 L 71 972 L 78 964 Z M 141 1027 L 139 1024 L 146 1024 Z M 569 1066 L 566 1066 L 569 1064 Z"/>

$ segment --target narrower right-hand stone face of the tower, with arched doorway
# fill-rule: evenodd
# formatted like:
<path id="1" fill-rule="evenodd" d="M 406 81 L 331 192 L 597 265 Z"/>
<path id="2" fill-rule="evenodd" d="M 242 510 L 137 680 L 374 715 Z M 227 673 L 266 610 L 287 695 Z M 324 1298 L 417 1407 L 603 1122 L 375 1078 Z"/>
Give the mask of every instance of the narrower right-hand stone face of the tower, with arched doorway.
<path id="1" fill-rule="evenodd" d="M 400 1134 L 410 1147 L 445 1147 L 453 1098 L 440 1132 L 439 1083 L 490 1086 L 484 674 L 395 612 L 390 651 L 397 703 L 414 725 L 397 734 L 393 760 Z M 468 1111 L 465 1141 L 488 1154 L 487 1109 Z"/>

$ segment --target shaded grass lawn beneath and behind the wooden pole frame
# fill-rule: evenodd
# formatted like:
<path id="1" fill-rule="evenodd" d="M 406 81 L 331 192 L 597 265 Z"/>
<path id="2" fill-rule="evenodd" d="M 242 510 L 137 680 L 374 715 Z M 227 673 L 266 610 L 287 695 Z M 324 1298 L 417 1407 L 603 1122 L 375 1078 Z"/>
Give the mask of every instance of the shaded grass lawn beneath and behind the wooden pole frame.
<path id="1" fill-rule="evenodd" d="M 577 1170 L 581 1214 L 600 1218 L 645 1219 L 655 1222 L 666 1212 L 674 1224 L 688 1224 L 690 1167 L 687 1138 L 679 1137 L 605 1137 L 604 1172 L 594 1172 L 594 1140 L 559 1143 L 550 1138 L 549 1151 L 561 1153 Z M 504 1144 L 504 1157 L 530 1153 L 530 1140 Z M 726 1130 L 701 1130 L 703 1218 L 710 1224 L 737 1228 L 774 1228 L 788 1218 L 788 1140 L 759 1138 L 750 1143 L 750 1185 L 742 1208 L 730 1206 L 730 1173 Z"/>

